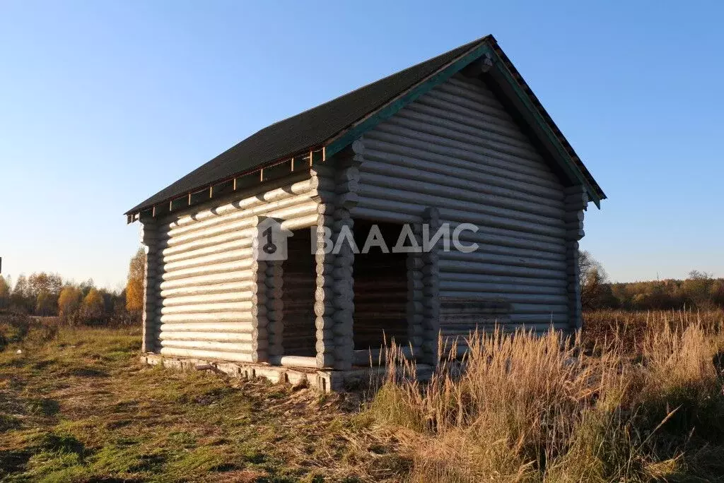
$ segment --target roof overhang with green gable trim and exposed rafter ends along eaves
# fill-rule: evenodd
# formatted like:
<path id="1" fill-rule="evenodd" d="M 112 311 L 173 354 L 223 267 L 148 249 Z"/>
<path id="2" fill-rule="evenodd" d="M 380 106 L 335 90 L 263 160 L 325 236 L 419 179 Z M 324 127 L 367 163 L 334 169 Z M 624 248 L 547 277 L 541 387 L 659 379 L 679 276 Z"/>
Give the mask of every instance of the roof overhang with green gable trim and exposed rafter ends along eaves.
<path id="1" fill-rule="evenodd" d="M 580 183 L 586 189 L 589 200 L 600 208 L 601 200 L 606 198 L 605 193 L 581 159 L 578 158 L 573 147 L 565 139 L 563 133 L 560 132 L 560 129 L 545 111 L 529 85 L 523 80 L 521 74 L 515 69 L 508 56 L 498 46 L 495 38 L 488 35 L 463 52 L 463 54 L 460 54 L 460 56 L 424 77 L 415 85 L 408 87 L 390 101 L 363 116 L 363 118 L 358 119 L 358 121 L 338 132 L 326 142 L 311 146 L 300 153 L 289 153 L 277 161 L 264 163 L 233 176 L 219 179 L 213 184 L 206 184 L 183 195 L 169 198 L 164 202 L 133 208 L 125 213 L 127 222 L 132 223 L 146 216 L 155 218 L 172 211 L 189 208 L 201 202 L 208 202 L 214 197 L 227 195 L 239 189 L 251 188 L 264 181 L 287 176 L 302 168 L 308 169 L 313 163 L 326 161 L 347 148 L 365 132 L 376 127 L 377 124 L 394 116 L 400 109 L 466 68 L 478 71 L 486 76 L 486 80 L 494 82 L 497 89 L 505 96 L 508 104 L 515 109 L 518 119 L 526 124 L 529 132 L 536 137 L 539 145 L 560 167 L 563 174 L 573 183 Z"/>

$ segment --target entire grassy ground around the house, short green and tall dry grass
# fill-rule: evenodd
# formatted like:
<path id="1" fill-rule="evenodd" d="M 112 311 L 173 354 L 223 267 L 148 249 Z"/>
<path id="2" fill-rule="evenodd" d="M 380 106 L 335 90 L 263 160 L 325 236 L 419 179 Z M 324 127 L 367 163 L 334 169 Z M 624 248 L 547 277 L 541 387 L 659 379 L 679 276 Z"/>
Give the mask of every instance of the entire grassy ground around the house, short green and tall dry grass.
<path id="1" fill-rule="evenodd" d="M 476 339 L 371 400 L 144 367 L 136 329 L 0 322 L 8 482 L 724 481 L 721 312 Z M 401 364 L 403 365 L 403 364 Z"/>

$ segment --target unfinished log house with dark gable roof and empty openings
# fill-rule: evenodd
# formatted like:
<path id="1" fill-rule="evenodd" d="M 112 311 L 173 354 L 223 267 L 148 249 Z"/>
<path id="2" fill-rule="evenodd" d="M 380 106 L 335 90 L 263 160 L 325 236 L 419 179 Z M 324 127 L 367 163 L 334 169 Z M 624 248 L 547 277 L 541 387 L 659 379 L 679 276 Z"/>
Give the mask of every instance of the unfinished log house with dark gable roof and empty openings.
<path id="1" fill-rule="evenodd" d="M 147 254 L 146 361 L 329 390 L 369 367 L 383 338 L 422 371 L 439 333 L 575 330 L 584 210 L 604 198 L 481 38 L 261 129 L 129 210 Z M 255 250 L 269 218 L 291 235 L 286 260 Z M 461 223 L 478 227 L 460 234 L 474 251 L 443 239 L 422 252 L 324 249 L 325 227 L 362 247 L 373 225 L 391 246 L 404 226 L 422 244 Z"/>

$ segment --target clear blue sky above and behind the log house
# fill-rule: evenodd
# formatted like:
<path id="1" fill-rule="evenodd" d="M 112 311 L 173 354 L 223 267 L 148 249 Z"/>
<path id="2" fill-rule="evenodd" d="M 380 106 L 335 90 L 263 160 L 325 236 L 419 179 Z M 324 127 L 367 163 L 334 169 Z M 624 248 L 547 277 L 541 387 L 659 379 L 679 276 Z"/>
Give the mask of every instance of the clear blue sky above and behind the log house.
<path id="1" fill-rule="evenodd" d="M 584 5 L 586 3 L 586 5 Z M 0 256 L 116 288 L 122 213 L 261 127 L 479 38 L 605 189 L 616 281 L 724 276 L 724 8 L 714 2 L 0 3 Z"/>

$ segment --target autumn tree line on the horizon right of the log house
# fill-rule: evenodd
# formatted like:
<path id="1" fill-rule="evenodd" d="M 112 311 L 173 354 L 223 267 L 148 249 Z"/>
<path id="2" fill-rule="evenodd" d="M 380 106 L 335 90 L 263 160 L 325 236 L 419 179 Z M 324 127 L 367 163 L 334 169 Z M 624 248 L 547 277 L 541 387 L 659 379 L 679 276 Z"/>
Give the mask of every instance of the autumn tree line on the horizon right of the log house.
<path id="1" fill-rule="evenodd" d="M 684 280 L 611 283 L 589 252 L 578 253 L 584 310 L 669 310 L 724 308 L 724 278 L 692 270 Z"/>

